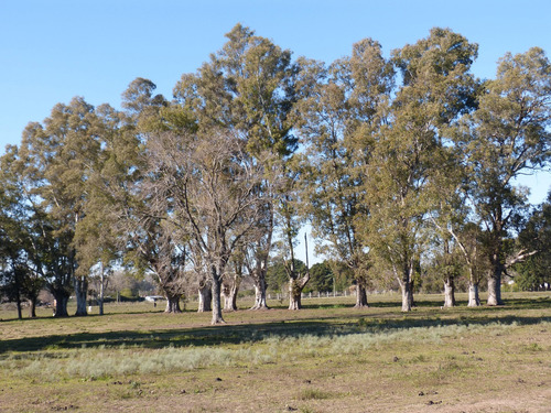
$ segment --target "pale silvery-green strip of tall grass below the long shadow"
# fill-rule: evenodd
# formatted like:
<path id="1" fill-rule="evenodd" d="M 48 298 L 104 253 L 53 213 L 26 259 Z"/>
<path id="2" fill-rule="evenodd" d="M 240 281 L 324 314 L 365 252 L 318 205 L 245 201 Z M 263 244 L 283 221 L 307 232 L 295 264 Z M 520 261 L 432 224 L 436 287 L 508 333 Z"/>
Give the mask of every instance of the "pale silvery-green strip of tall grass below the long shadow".
<path id="1" fill-rule="evenodd" d="M 541 328 L 551 328 L 551 323 L 541 322 Z M 25 378 L 62 380 L 65 378 L 101 379 L 130 374 L 161 374 L 190 371 L 209 367 L 239 365 L 259 366 L 279 363 L 289 359 L 355 356 L 372 348 L 385 348 L 390 344 L 424 345 L 441 344 L 446 339 L 462 339 L 476 335 L 500 336 L 517 327 L 517 323 L 487 325 L 447 325 L 434 327 L 389 328 L 385 332 L 355 333 L 342 328 L 329 336 L 299 335 L 269 336 L 255 344 L 223 347 L 166 347 L 144 349 L 141 347 L 82 348 L 65 351 L 13 354 L 0 361 L 0 369 L 13 371 Z M 538 344 L 525 347 L 526 351 L 542 351 Z M 417 361 L 422 362 L 424 356 Z M 453 370 L 455 362 L 445 362 L 440 370 Z"/>

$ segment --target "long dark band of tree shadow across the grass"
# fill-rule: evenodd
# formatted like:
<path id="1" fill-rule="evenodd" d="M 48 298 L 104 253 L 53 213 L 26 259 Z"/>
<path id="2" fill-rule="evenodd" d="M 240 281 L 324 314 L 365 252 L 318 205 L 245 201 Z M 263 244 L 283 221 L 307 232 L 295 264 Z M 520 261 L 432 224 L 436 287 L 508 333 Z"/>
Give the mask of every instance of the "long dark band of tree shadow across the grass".
<path id="1" fill-rule="evenodd" d="M 424 302 L 423 302 L 424 303 Z M 385 303 L 387 304 L 387 303 Z M 432 307 L 432 302 L 430 302 Z M 418 303 L 422 305 L 422 303 Z M 383 307 L 386 307 L 385 305 Z M 396 306 L 396 304 L 395 304 Z M 28 337 L 0 341 L 0 355 L 10 351 L 52 351 L 76 348 L 164 348 L 164 347 L 203 347 L 238 345 L 260 341 L 268 337 L 343 336 L 358 333 L 383 333 L 417 327 L 444 327 L 451 325 L 533 325 L 551 322 L 550 316 L 527 317 L 503 315 L 501 308 L 551 308 L 551 300 L 510 300 L 507 307 L 461 308 L 445 313 L 385 313 L 369 314 L 350 311 L 347 315 L 324 316 L 296 320 L 273 320 L 264 323 L 227 324 L 220 326 L 186 327 L 162 330 L 120 330 L 105 333 L 76 333 Z M 432 309 L 431 309 L 432 311 Z M 446 318 L 441 318 L 446 316 Z M 315 317 L 315 318 L 314 318 Z"/>

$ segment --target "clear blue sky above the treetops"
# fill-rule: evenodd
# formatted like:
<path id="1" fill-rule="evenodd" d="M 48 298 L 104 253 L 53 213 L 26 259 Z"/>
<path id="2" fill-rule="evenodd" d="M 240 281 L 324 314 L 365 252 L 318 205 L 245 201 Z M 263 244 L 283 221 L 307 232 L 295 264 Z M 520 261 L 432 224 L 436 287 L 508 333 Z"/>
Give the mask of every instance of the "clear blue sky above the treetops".
<path id="1" fill-rule="evenodd" d="M 450 28 L 478 43 L 474 72 L 493 77 L 506 52 L 551 54 L 550 17 L 549 0 L 0 0 L 0 154 L 19 144 L 28 122 L 74 96 L 119 107 L 140 76 L 170 98 L 238 22 L 295 57 L 324 62 L 364 37 L 389 55 L 433 26 Z M 541 202 L 551 180 L 525 182 Z"/>

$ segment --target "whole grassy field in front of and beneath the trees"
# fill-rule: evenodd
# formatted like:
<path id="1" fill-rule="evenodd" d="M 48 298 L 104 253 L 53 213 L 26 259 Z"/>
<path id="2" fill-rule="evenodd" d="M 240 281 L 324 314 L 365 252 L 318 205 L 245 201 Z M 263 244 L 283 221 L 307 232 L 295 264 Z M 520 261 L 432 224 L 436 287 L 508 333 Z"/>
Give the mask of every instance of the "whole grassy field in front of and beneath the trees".
<path id="1" fill-rule="evenodd" d="M 305 309 L 15 319 L 0 311 L 1 412 L 551 412 L 551 293 L 443 309 L 418 295 L 304 300 Z M 71 308 L 69 308 L 71 314 Z"/>

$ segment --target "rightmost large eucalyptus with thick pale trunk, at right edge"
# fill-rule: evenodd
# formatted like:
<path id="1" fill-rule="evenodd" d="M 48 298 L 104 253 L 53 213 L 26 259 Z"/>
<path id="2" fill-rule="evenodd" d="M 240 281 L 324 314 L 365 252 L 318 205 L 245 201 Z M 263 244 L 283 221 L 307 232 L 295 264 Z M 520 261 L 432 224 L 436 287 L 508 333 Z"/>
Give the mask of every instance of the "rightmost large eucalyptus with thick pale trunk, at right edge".
<path id="1" fill-rule="evenodd" d="M 527 206 L 527 191 L 515 180 L 549 164 L 550 126 L 551 66 L 545 53 L 534 47 L 506 54 L 457 140 L 469 169 L 472 203 L 487 235 L 488 305 L 503 304 L 504 240 Z"/>

